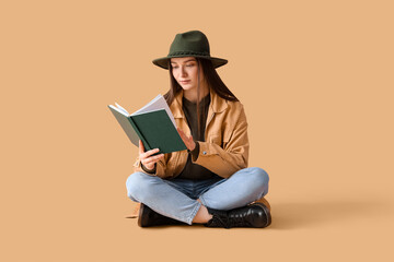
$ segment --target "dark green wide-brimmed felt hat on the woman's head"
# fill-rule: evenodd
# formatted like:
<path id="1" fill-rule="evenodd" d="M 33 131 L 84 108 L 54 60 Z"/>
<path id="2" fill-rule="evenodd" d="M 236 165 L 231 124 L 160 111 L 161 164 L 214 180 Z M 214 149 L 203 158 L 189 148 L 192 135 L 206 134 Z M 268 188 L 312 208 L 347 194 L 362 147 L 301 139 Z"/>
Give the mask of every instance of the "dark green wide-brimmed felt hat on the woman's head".
<path id="1" fill-rule="evenodd" d="M 169 60 L 177 57 L 198 57 L 212 61 L 215 68 L 228 63 L 228 60 L 210 56 L 209 41 L 207 36 L 200 31 L 188 31 L 176 34 L 171 44 L 170 52 L 166 57 L 154 59 L 152 62 L 163 69 L 169 69 Z"/>

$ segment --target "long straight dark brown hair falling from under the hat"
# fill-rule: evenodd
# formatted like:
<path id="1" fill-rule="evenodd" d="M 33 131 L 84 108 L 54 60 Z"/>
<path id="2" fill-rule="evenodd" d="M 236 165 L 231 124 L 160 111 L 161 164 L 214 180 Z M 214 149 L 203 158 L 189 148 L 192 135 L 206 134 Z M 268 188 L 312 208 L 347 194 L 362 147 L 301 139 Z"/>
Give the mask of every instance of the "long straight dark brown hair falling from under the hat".
<path id="1" fill-rule="evenodd" d="M 215 93 L 217 93 L 221 98 L 231 102 L 237 102 L 239 99 L 227 87 L 223 81 L 220 79 L 218 72 L 213 68 L 212 61 L 209 59 L 197 58 L 197 67 L 198 67 L 198 82 L 197 82 L 197 124 L 198 124 L 198 138 L 200 136 L 200 121 L 202 120 L 207 112 L 199 112 L 199 100 L 200 100 L 200 70 L 202 69 L 204 78 L 207 82 L 208 88 L 211 88 Z M 170 91 L 165 93 L 164 98 L 169 106 L 173 103 L 177 93 L 182 91 L 182 86 L 176 82 L 173 73 L 172 66 L 169 59 L 169 72 L 170 72 Z M 204 119 L 205 120 L 205 119 Z"/>

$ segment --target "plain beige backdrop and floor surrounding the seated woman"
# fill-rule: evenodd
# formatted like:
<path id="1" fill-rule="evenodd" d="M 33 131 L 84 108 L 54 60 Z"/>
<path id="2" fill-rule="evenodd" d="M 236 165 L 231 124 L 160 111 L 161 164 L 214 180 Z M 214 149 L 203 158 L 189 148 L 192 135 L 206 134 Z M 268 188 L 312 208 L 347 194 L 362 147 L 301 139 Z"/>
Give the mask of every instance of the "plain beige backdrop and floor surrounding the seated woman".
<path id="1" fill-rule="evenodd" d="M 392 1 L 1 1 L 1 261 L 393 261 Z M 169 88 L 205 32 L 245 106 L 266 229 L 126 219 L 137 147 L 107 105 Z M 170 261 L 170 260 L 169 260 Z"/>

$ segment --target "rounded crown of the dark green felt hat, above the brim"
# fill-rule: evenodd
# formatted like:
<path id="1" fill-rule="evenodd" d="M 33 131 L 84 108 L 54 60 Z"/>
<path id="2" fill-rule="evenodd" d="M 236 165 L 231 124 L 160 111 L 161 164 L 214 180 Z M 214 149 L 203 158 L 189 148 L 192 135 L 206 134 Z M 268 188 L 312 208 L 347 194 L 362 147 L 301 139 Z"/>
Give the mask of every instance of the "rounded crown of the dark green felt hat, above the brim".
<path id="1" fill-rule="evenodd" d="M 176 34 L 171 44 L 169 56 L 178 55 L 210 56 L 207 36 L 200 31 L 189 31 Z"/>

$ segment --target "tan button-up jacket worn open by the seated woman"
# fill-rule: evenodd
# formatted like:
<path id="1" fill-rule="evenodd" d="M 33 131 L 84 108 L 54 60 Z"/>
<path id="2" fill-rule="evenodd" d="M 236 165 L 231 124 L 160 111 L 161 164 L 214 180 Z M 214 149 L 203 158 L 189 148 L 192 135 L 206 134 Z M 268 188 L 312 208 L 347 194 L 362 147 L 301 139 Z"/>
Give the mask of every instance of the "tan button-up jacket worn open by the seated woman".
<path id="1" fill-rule="evenodd" d="M 187 135 L 190 129 L 184 111 L 182 110 L 183 91 L 171 104 L 170 109 L 174 115 L 175 123 Z M 193 163 L 204 166 L 220 177 L 228 178 L 235 171 L 247 167 L 248 138 L 247 121 L 243 105 L 240 102 L 229 102 L 210 91 L 211 103 L 208 109 L 207 126 L 205 131 L 206 142 L 198 141 L 199 155 Z M 164 154 L 164 159 L 157 163 L 155 174 L 161 178 L 174 178 L 181 174 L 186 165 L 187 151 Z M 137 158 L 135 171 L 143 171 Z"/>

